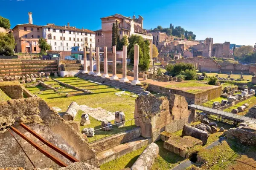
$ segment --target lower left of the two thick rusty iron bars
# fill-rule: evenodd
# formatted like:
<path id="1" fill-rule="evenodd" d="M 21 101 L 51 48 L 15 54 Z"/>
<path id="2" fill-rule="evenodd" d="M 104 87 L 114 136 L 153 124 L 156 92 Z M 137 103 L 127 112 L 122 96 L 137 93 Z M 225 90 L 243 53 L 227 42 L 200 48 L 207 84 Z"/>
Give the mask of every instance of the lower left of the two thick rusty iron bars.
<path id="1" fill-rule="evenodd" d="M 28 138 L 26 135 L 21 133 L 19 130 L 17 130 L 15 127 L 10 127 L 12 131 L 17 133 L 21 138 L 25 139 L 25 141 L 29 142 L 35 149 L 39 150 L 41 153 L 43 153 L 45 156 L 50 158 L 52 161 L 54 161 L 56 164 L 58 164 L 61 167 L 67 167 L 67 164 L 61 161 L 60 159 L 53 156 L 51 153 L 49 153 L 47 150 L 44 150 L 42 147 L 40 147 L 38 144 L 36 144 L 34 141 L 32 141 L 30 138 Z"/>

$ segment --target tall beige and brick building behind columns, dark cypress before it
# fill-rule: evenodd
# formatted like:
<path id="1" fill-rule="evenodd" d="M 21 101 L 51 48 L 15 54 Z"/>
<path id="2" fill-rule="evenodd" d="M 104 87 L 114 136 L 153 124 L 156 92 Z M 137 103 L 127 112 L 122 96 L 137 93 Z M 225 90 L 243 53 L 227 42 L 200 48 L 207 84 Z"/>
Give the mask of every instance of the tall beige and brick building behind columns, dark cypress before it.
<path id="1" fill-rule="evenodd" d="M 121 14 L 114 14 L 100 19 L 102 21 L 102 29 L 95 31 L 95 46 L 99 46 L 101 51 L 103 51 L 104 46 L 108 46 L 108 51 L 111 51 L 113 23 L 118 24 L 121 39 L 124 35 L 128 37 L 131 35 L 141 35 L 144 39 L 151 40 L 152 42 L 152 35 L 143 30 L 144 19 L 140 15 L 138 18 L 136 18 L 135 15 L 131 18 Z"/>

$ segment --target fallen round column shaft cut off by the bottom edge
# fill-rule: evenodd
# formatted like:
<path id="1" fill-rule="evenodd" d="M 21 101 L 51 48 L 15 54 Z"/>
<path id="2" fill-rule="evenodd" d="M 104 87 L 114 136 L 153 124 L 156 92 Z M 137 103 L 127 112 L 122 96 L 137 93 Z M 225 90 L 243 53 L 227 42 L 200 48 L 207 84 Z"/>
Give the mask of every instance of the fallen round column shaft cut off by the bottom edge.
<path id="1" fill-rule="evenodd" d="M 159 148 L 157 144 L 149 144 L 139 158 L 131 166 L 131 170 L 151 170 L 157 154 L 159 153 Z"/>

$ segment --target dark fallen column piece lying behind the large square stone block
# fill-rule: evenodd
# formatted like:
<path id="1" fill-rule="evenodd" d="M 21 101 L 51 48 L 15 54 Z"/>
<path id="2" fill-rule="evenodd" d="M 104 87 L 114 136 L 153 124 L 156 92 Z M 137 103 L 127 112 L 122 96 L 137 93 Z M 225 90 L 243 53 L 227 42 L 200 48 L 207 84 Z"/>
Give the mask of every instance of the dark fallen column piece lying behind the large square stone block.
<path id="1" fill-rule="evenodd" d="M 203 144 L 207 143 L 208 135 L 209 134 L 207 132 L 195 127 L 191 127 L 189 125 L 185 125 L 182 130 L 182 136 L 192 136 L 194 138 L 200 139 Z"/>

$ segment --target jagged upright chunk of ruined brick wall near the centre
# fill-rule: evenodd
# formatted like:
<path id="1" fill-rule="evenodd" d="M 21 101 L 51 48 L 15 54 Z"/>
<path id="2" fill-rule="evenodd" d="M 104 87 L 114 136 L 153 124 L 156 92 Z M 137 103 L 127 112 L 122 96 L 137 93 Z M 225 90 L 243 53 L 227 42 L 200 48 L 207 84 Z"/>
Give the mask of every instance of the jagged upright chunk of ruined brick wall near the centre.
<path id="1" fill-rule="evenodd" d="M 154 95 L 140 95 L 135 100 L 135 124 L 141 128 L 141 135 L 152 138 L 152 142 L 160 140 L 163 131 L 176 132 L 194 120 L 188 110 L 188 103 L 181 95 L 170 94 L 156 98 Z"/>

